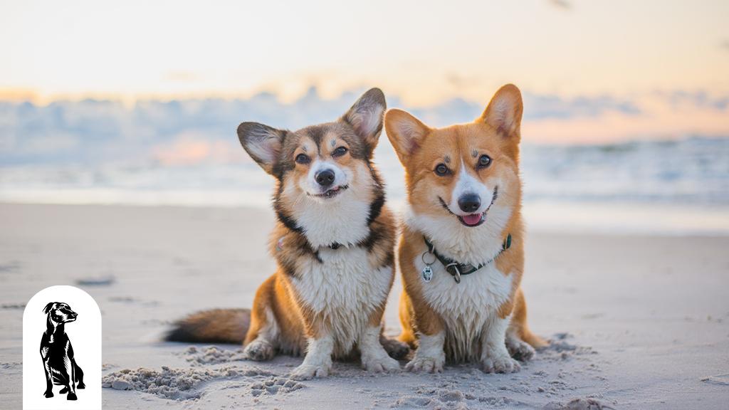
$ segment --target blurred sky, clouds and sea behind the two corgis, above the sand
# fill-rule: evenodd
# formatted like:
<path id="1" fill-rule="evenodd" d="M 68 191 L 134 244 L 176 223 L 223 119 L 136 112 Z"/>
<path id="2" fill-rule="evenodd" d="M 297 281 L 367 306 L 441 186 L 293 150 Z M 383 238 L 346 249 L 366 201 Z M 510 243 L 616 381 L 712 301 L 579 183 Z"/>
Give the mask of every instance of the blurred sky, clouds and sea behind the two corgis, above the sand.
<path id="1" fill-rule="evenodd" d="M 729 2 L 0 1 L 0 201 L 258 206 L 235 128 L 524 97 L 535 231 L 729 234 Z M 393 206 L 402 167 L 375 154 Z"/>

